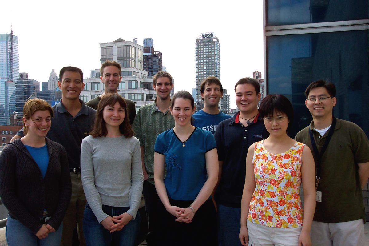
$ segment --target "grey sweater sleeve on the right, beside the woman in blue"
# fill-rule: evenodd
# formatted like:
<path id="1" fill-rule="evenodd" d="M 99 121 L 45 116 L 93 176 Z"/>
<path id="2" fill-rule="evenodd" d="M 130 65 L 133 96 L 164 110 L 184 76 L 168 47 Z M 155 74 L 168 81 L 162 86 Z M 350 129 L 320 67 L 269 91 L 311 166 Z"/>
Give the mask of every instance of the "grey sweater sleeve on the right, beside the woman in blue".
<path id="1" fill-rule="evenodd" d="M 131 162 L 131 189 L 130 209 L 127 211 L 133 218 L 136 217 L 142 197 L 144 175 L 142 174 L 141 150 L 139 142 L 132 146 L 134 148 Z"/>

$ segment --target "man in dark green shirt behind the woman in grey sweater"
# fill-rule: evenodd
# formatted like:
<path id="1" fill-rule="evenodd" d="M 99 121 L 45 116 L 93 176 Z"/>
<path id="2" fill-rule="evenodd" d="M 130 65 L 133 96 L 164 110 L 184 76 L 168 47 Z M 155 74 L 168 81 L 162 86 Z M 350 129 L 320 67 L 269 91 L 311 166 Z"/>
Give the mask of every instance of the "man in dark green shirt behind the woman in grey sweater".
<path id="1" fill-rule="evenodd" d="M 121 70 L 122 69 L 121 69 L 120 64 L 116 61 L 105 61 L 101 65 L 100 80 L 101 82 L 104 83 L 105 91 L 100 96 L 97 96 L 96 98 L 91 99 L 88 102 L 86 102 L 87 106 L 90 106 L 93 109 L 97 110 L 97 105 L 99 104 L 101 98 L 103 98 L 103 96 L 106 93 L 109 93 L 109 92 L 118 93 L 118 86 L 122 80 Z M 127 113 L 128 113 L 128 117 L 130 118 L 130 124 L 132 124 L 136 116 L 136 105 L 130 99 L 124 98 L 124 101 L 125 103 L 127 103 Z"/>

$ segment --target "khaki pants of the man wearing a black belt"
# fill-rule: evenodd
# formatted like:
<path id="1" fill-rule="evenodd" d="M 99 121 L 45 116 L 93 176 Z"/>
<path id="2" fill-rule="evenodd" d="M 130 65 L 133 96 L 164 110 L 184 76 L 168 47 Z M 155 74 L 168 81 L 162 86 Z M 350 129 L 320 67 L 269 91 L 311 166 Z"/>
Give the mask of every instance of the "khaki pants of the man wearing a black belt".
<path id="1" fill-rule="evenodd" d="M 73 238 L 73 230 L 77 226 L 78 239 L 80 246 L 85 246 L 85 236 L 83 236 L 82 219 L 86 206 L 85 192 L 83 192 L 82 180 L 80 173 L 70 173 L 72 181 L 72 197 L 63 219 L 63 235 L 61 246 L 71 246 Z"/>

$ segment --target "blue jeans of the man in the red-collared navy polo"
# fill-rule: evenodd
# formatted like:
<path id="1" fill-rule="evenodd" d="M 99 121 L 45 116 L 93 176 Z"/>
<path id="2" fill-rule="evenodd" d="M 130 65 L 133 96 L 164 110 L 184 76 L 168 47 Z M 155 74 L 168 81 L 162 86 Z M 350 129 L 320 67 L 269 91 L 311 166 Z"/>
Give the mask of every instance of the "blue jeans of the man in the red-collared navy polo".
<path id="1" fill-rule="evenodd" d="M 241 229 L 241 208 L 218 205 L 218 246 L 242 246 L 238 238 Z"/>

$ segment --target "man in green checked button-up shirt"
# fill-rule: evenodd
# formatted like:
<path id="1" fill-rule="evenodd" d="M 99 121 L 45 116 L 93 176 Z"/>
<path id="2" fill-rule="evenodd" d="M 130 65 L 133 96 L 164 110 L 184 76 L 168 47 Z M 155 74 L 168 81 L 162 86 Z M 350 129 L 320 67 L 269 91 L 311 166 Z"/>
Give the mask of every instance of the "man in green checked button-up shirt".
<path id="1" fill-rule="evenodd" d="M 174 127 L 173 116 L 169 112 L 170 90 L 173 88 L 173 79 L 168 72 L 159 71 L 154 76 L 152 85 L 156 92 L 153 103 L 138 109 L 132 125 L 134 136 L 141 145 L 142 171 L 144 172 L 144 189 L 146 216 L 148 219 L 148 246 L 159 245 L 155 243 L 154 231 L 156 228 L 156 205 L 160 201 L 154 185 L 154 146 L 156 137 Z"/>

